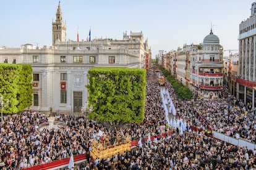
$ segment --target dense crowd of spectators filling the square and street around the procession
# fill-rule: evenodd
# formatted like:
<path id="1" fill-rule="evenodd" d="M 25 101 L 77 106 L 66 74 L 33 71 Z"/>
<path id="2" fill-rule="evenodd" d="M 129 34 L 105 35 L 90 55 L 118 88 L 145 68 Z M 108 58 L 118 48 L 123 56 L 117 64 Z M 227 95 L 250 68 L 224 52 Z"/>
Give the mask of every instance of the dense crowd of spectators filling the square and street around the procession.
<path id="1" fill-rule="evenodd" d="M 241 103 L 239 107 L 229 103 L 231 107 L 228 108 L 228 101 L 225 99 L 203 100 L 194 97 L 193 100 L 179 100 L 171 84 L 165 81 L 164 88 L 170 92 L 177 115 L 187 122 L 187 131 L 180 134 L 177 129 L 166 124 L 158 74 L 154 70 L 147 74 L 145 121 L 142 124 L 131 124 L 129 128 L 110 129 L 92 120 L 86 124 L 84 116 L 61 115 L 58 121 L 65 126 L 49 131 L 40 130 L 40 124 L 48 122 L 48 115 L 23 111 L 8 116 L 0 132 L 0 168 L 30 168 L 69 158 L 70 153 L 86 153 L 87 160 L 75 164 L 75 169 L 255 169 L 255 149 L 216 140 L 207 136 L 204 131 L 189 131 L 191 126 L 198 129 L 210 126 L 229 136 L 255 142 L 254 116 L 245 114 L 249 111 L 248 105 Z M 237 109 L 238 107 L 241 109 Z M 156 137 L 157 134 L 169 131 L 170 136 Z M 118 153 L 106 160 L 93 160 L 90 157 L 90 144 L 102 133 L 111 138 L 130 136 L 132 140 L 144 139 L 144 142 L 129 152 Z M 148 136 L 155 139 L 146 140 Z M 214 144 L 216 150 L 213 148 Z M 234 163 L 228 161 L 231 154 L 234 156 Z"/>

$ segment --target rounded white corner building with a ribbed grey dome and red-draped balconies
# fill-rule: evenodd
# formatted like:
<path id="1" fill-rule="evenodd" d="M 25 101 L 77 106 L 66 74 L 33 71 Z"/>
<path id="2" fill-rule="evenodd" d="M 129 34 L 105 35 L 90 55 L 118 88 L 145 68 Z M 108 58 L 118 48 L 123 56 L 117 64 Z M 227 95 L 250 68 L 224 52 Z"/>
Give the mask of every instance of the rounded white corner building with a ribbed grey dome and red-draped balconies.
<path id="1" fill-rule="evenodd" d="M 223 47 L 220 45 L 220 39 L 211 30 L 198 47 L 197 51 L 190 51 L 192 89 L 196 89 L 198 96 L 203 99 L 221 97 L 223 91 Z"/>

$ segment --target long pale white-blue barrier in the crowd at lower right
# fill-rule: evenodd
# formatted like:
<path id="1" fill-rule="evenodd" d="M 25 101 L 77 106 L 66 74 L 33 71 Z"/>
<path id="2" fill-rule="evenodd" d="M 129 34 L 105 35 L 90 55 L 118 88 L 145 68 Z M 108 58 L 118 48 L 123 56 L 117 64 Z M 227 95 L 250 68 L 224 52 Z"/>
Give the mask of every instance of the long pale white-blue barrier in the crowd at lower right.
<path id="1" fill-rule="evenodd" d="M 220 140 L 223 140 L 225 142 L 229 142 L 230 144 L 237 145 L 239 147 L 247 147 L 247 148 L 252 149 L 252 150 L 254 150 L 256 148 L 255 144 L 253 144 L 251 142 L 248 142 L 246 140 L 236 139 L 234 137 L 227 136 L 225 134 L 222 134 L 222 133 L 216 132 L 216 131 L 212 131 L 212 133 L 213 133 L 213 137 L 215 137 L 216 139 L 220 139 Z"/>

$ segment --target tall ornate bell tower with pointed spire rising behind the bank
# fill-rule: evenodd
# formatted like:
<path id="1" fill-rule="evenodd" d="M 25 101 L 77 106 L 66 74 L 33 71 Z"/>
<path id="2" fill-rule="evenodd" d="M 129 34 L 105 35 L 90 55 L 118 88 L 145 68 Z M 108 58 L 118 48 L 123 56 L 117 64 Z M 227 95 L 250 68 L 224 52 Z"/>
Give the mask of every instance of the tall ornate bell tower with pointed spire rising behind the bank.
<path id="1" fill-rule="evenodd" d="M 59 41 L 66 41 L 66 23 L 62 20 L 62 12 L 61 12 L 61 2 L 59 1 L 59 6 L 56 12 L 56 20 L 53 22 L 53 46 L 57 39 Z"/>

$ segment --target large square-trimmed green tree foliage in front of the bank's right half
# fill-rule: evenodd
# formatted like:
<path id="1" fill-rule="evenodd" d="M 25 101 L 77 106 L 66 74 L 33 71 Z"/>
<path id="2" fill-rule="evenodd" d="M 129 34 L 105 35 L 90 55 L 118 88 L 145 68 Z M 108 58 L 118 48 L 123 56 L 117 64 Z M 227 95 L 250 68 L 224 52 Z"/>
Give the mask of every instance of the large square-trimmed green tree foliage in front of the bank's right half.
<path id="1" fill-rule="evenodd" d="M 146 70 L 139 68 L 92 68 L 88 101 L 90 119 L 113 124 L 141 123 L 145 115 Z"/>

